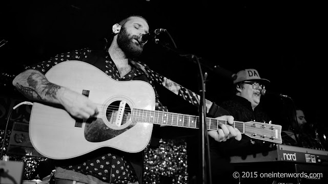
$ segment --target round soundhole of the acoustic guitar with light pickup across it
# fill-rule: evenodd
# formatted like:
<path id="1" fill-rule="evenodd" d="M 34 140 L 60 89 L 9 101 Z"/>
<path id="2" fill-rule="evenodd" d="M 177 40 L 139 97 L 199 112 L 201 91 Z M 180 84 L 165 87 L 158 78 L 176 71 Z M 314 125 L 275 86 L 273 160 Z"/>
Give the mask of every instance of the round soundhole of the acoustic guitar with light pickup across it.
<path id="1" fill-rule="evenodd" d="M 106 117 L 111 126 L 124 126 L 131 118 L 131 108 L 128 103 L 122 105 L 121 101 L 114 101 L 107 107 Z"/>

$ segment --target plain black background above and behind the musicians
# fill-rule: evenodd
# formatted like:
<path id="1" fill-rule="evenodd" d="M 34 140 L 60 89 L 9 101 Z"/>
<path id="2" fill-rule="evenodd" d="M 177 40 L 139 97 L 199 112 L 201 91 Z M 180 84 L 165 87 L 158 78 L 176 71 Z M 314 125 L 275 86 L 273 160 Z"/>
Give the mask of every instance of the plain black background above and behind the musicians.
<path id="1" fill-rule="evenodd" d="M 201 57 L 209 74 L 206 99 L 229 98 L 232 82 L 212 72 L 215 65 L 237 73 L 255 68 L 269 79 L 268 90 L 288 95 L 304 108 L 308 121 L 325 122 L 326 82 L 323 5 L 310 1 L 2 1 L 1 73 L 17 75 L 24 65 L 84 47 L 102 48 L 111 27 L 128 14 L 144 16 L 150 30 L 167 29 L 178 53 Z M 158 36 L 172 43 L 167 34 Z M 171 44 L 172 45 L 172 44 Z M 199 91 L 199 70 L 192 61 L 159 44 L 146 44 L 142 59 L 157 73 Z M 5 75 L 2 75 L 4 78 Z M 10 77 L 9 77 L 10 78 Z M 11 79 L 11 78 L 10 78 Z M 3 80 L 4 81 L 4 80 Z M 2 93 L 19 96 L 9 85 Z M 158 87 L 172 112 L 197 114 L 197 107 Z M 293 103 L 264 96 L 261 104 L 274 119 L 286 122 Z"/>

